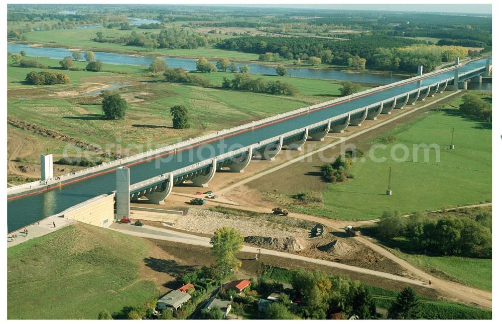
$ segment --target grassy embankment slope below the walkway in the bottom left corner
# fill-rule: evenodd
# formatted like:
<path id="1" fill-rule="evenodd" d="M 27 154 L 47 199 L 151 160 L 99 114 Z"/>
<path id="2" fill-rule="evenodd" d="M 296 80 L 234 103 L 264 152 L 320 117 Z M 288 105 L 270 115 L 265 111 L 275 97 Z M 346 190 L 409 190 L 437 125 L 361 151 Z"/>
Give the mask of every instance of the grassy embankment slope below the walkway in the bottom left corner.
<path id="1" fill-rule="evenodd" d="M 81 223 L 12 247 L 8 318 L 96 319 L 157 297 L 138 274 L 147 250 L 138 238 Z"/>

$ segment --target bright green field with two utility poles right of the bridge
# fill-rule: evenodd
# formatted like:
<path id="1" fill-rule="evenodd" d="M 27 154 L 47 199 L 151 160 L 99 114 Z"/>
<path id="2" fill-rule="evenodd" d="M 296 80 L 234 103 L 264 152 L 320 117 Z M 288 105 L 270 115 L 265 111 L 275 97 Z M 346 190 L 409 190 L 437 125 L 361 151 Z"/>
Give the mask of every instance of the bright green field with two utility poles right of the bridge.
<path id="1" fill-rule="evenodd" d="M 474 93 L 491 100 L 491 92 Z M 385 157 L 385 161 L 373 161 L 365 152 L 364 161 L 353 163 L 353 180 L 330 184 L 323 192 L 324 204 L 296 208 L 330 218 L 367 220 L 380 217 L 385 210 L 410 213 L 491 201 L 491 124 L 459 114 L 460 103 L 456 97 L 375 139 L 372 144 L 382 144 L 395 136 L 386 148 L 374 151 L 374 157 Z M 448 149 L 452 128 L 454 150 Z M 430 149 L 429 161 L 425 161 L 424 149 L 420 149 L 413 161 L 413 144 L 420 143 L 441 147 L 439 159 L 436 150 Z M 391 158 L 393 147 L 397 147 L 396 157 L 404 161 Z M 403 147 L 409 150 L 407 158 L 403 158 Z M 393 193 L 387 196 L 390 167 Z"/>

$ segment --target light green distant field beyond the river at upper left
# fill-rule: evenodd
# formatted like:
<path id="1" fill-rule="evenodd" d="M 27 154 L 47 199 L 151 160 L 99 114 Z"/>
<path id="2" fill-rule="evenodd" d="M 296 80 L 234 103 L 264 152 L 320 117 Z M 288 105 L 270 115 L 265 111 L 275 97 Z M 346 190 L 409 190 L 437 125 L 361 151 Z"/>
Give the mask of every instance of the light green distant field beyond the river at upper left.
<path id="1" fill-rule="evenodd" d="M 136 30 L 139 32 L 141 30 Z M 68 48 L 106 51 L 106 52 L 132 52 L 145 55 L 172 55 L 185 57 L 207 57 L 217 58 L 226 57 L 233 60 L 257 61 L 258 54 L 243 53 L 236 51 L 220 50 L 213 47 L 198 48 L 198 49 L 157 49 L 154 52 L 148 52 L 143 47 L 126 46 L 121 44 L 97 43 L 92 39 L 96 37 L 96 33 L 103 33 L 103 37 L 120 37 L 122 35 L 130 35 L 132 31 L 120 31 L 117 29 L 96 28 L 96 29 L 68 29 L 54 31 L 38 31 L 27 33 L 30 43 L 48 43 L 63 45 Z M 160 30 L 148 30 L 149 33 L 159 33 Z"/>

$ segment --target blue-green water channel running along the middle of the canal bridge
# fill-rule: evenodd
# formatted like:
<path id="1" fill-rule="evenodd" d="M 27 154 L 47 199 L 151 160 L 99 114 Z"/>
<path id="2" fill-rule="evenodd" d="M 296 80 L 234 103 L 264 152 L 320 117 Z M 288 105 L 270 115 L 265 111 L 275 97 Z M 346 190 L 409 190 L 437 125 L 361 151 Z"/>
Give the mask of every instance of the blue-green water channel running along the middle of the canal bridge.
<path id="1" fill-rule="evenodd" d="M 470 62 L 460 70 L 463 73 L 478 69 L 484 65 L 485 60 L 482 59 Z M 197 151 L 199 153 L 194 153 L 191 149 L 178 149 L 176 153 L 173 152 L 168 155 L 170 157 L 169 160 L 164 157 L 162 159 L 150 159 L 144 163 L 126 165 L 131 169 L 131 184 L 191 166 L 198 161 L 264 141 L 288 131 L 307 127 L 313 123 L 342 115 L 374 102 L 390 99 L 423 86 L 433 85 L 439 81 L 451 78 L 453 75 L 453 70 L 439 72 L 438 74 L 425 77 L 421 81 L 402 84 L 385 89 L 384 91 L 376 91 L 363 97 L 357 97 L 356 95 L 348 102 L 328 105 L 323 109 L 309 114 L 299 115 L 281 122 L 270 123 L 254 130 L 249 129 L 245 132 L 230 134 L 225 137 L 222 136 L 204 144 L 192 145 L 191 147 L 198 146 Z M 60 213 L 74 205 L 101 194 L 108 194 L 113 190 L 115 190 L 115 173 L 114 170 L 111 170 L 107 173 L 99 173 L 93 177 L 87 177 L 81 181 L 65 185 L 60 189 L 55 188 L 51 191 L 8 200 L 8 231 L 16 230 L 37 220 Z"/>

